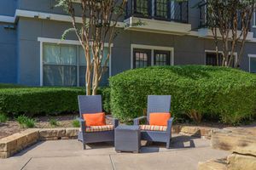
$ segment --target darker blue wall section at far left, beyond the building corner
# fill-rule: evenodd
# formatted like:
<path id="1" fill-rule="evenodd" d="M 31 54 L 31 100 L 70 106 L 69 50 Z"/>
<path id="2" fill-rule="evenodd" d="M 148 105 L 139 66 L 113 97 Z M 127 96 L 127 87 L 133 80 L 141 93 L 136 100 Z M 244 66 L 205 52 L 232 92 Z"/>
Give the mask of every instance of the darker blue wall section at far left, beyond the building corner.
<path id="1" fill-rule="evenodd" d="M 14 16 L 16 0 L 0 1 L 0 15 Z M 16 30 L 7 29 L 13 24 L 3 23 L 0 20 L 0 82 L 16 83 L 17 55 Z"/>

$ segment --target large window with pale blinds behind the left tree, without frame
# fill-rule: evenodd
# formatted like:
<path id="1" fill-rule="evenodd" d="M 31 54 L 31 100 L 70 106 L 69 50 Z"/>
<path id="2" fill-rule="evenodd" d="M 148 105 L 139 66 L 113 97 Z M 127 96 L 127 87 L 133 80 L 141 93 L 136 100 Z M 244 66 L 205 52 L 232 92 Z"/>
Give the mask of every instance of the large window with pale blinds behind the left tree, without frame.
<path id="1" fill-rule="evenodd" d="M 105 59 L 107 48 L 104 53 Z M 84 86 L 86 62 L 84 49 L 78 45 L 43 45 L 44 86 Z M 108 77 L 108 73 L 104 77 Z"/>

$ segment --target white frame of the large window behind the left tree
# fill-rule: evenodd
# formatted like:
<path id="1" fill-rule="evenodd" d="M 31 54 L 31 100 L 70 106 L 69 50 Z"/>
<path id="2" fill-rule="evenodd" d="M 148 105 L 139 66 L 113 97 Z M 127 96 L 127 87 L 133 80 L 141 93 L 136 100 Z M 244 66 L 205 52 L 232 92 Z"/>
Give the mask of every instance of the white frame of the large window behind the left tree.
<path id="1" fill-rule="evenodd" d="M 46 37 L 38 37 L 38 42 L 40 42 L 40 86 L 44 86 L 44 71 L 43 71 L 43 48 L 44 48 L 44 43 L 53 43 L 53 44 L 67 44 L 67 45 L 77 45 L 80 46 L 81 43 L 79 41 L 75 40 L 61 40 L 61 39 L 55 39 L 55 38 L 46 38 Z M 104 43 L 104 47 L 108 47 L 108 43 Z M 113 48 L 113 43 L 110 46 Z M 112 50 L 110 51 L 112 53 Z M 109 60 L 108 60 L 108 69 L 109 69 L 109 77 L 112 76 L 112 66 L 111 66 L 111 54 L 109 55 Z M 77 85 L 79 87 L 79 83 Z"/>

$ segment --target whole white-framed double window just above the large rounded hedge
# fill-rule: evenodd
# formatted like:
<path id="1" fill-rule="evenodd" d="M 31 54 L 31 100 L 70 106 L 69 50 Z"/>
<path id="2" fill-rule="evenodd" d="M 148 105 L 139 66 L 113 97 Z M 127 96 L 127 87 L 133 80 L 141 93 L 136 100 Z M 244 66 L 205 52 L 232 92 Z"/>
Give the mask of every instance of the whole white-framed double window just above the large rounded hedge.
<path id="1" fill-rule="evenodd" d="M 151 65 L 172 65 L 173 48 L 132 45 L 132 68 Z"/>

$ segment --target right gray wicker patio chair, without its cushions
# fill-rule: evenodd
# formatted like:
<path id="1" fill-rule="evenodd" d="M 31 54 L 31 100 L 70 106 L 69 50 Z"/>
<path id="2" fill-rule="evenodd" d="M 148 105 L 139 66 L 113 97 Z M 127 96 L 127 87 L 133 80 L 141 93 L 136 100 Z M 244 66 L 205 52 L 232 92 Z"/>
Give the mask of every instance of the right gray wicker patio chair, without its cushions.
<path id="1" fill-rule="evenodd" d="M 171 111 L 171 96 L 170 95 L 148 95 L 148 109 L 147 116 L 141 116 L 133 120 L 134 125 L 139 125 L 140 121 L 147 118 L 147 124 L 149 123 L 149 114 L 152 112 L 170 112 Z M 170 148 L 172 139 L 172 122 L 173 117 L 167 122 L 166 131 L 149 131 L 141 130 L 141 139 L 165 142 L 166 148 Z"/>

